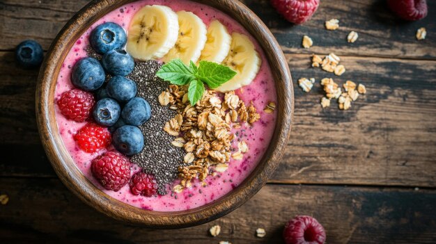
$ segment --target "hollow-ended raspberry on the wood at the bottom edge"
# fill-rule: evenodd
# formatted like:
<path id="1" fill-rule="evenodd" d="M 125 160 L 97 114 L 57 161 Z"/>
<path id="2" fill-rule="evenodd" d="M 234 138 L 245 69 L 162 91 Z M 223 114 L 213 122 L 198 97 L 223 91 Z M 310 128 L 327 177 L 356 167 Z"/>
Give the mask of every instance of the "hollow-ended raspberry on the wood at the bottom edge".
<path id="1" fill-rule="evenodd" d="M 315 218 L 297 215 L 286 223 L 283 238 L 286 244 L 322 244 L 325 230 Z"/>

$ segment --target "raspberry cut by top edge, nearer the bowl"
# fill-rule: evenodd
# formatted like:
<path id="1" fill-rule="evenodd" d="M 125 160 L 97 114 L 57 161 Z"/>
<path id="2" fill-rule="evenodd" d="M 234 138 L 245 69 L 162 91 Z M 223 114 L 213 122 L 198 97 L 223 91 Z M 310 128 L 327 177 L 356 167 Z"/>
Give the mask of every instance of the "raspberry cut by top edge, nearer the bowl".
<path id="1" fill-rule="evenodd" d="M 302 24 L 315 13 L 320 0 L 271 0 L 271 3 L 285 19 Z"/>

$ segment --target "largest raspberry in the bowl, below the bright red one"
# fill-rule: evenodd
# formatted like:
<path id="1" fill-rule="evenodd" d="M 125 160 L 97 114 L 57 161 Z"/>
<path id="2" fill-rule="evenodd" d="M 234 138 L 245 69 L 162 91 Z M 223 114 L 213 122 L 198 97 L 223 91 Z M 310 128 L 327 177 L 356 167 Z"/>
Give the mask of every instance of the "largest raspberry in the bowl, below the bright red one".
<path id="1" fill-rule="evenodd" d="M 118 191 L 130 179 L 130 162 L 119 152 L 105 152 L 91 163 L 93 176 L 107 190 Z"/>

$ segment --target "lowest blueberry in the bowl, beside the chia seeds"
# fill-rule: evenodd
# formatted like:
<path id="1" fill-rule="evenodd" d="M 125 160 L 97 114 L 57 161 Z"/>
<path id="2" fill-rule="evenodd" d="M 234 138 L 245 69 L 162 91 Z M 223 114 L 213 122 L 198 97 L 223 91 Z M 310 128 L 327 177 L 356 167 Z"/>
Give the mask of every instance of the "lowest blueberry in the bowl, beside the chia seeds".
<path id="1" fill-rule="evenodd" d="M 118 151 L 131 156 L 143 149 L 143 135 L 138 127 L 125 125 L 116 129 L 112 135 L 112 143 Z"/>

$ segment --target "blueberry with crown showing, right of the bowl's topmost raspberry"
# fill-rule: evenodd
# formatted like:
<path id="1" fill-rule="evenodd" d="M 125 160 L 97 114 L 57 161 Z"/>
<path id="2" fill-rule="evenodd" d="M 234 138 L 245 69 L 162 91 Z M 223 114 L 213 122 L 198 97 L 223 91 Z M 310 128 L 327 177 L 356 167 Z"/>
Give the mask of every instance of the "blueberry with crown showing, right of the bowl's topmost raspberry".
<path id="1" fill-rule="evenodd" d="M 120 105 L 111 98 L 104 98 L 95 104 L 93 117 L 98 124 L 110 127 L 120 117 Z"/>

